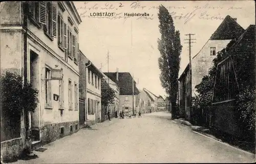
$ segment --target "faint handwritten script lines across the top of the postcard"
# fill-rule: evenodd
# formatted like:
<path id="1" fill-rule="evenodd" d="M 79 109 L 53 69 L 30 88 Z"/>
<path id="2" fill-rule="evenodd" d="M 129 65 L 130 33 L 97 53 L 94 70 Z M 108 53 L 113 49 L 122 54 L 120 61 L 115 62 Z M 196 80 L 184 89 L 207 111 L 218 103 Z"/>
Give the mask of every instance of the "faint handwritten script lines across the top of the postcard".
<path id="1" fill-rule="evenodd" d="M 204 4 L 202 6 L 186 7 L 186 6 L 166 6 L 166 9 L 169 10 L 170 15 L 173 19 L 183 20 L 184 24 L 189 22 L 191 19 L 199 18 L 204 20 L 223 20 L 226 15 L 221 13 L 214 12 L 215 14 L 210 14 L 209 10 L 240 10 L 242 7 L 222 7 L 222 6 L 210 6 L 209 4 Z M 99 19 L 123 19 L 126 21 L 129 18 L 132 18 L 130 14 L 127 13 L 148 13 L 148 15 L 136 16 L 136 19 L 146 19 L 153 20 L 157 18 L 159 6 L 146 6 L 142 5 L 140 2 L 131 2 L 130 4 L 113 3 L 93 3 L 93 2 L 84 2 L 84 4 L 77 8 L 77 11 L 81 18 L 99 18 Z M 191 10 L 192 9 L 192 10 Z M 190 10 L 190 11 L 189 11 Z M 124 12 L 127 11 L 127 12 Z M 128 12 L 129 11 L 129 12 Z M 111 16 L 105 14 L 105 16 L 93 16 L 92 12 L 111 12 Z M 141 15 L 139 14 L 139 15 Z M 104 14 L 103 14 L 104 15 Z M 127 16 L 130 15 L 130 16 Z"/>

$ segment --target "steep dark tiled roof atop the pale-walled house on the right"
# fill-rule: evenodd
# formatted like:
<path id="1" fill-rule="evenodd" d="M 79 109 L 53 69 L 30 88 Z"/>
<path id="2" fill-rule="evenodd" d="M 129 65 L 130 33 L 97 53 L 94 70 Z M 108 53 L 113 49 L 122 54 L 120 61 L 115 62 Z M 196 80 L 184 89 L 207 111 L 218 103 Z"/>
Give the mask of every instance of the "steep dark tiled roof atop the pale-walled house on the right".
<path id="1" fill-rule="evenodd" d="M 237 23 L 235 18 L 231 18 L 227 15 L 214 34 L 211 35 L 210 40 L 229 40 L 239 38 L 244 31 L 245 30 Z"/>

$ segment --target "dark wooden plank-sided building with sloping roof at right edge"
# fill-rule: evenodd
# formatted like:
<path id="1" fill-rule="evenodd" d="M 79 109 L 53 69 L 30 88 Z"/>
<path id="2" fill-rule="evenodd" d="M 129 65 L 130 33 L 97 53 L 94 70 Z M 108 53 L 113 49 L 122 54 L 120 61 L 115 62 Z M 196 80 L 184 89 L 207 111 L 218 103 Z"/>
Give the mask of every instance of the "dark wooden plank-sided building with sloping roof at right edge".
<path id="1" fill-rule="evenodd" d="M 249 81 L 254 80 L 255 73 L 245 75 L 246 81 L 241 81 L 237 75 L 241 77 L 241 71 L 254 72 L 255 65 L 246 63 L 250 64 L 247 68 L 237 68 L 236 65 L 245 64 L 243 60 L 238 59 L 238 56 L 241 54 L 247 59 L 255 61 L 255 25 L 250 25 L 246 29 L 240 38 L 228 49 L 227 54 L 228 56 L 218 63 L 217 66 L 214 95 L 212 97 L 214 119 L 211 120 L 210 124 L 225 133 L 242 136 L 244 133 L 242 133 L 238 120 L 235 117 L 235 111 L 237 110 L 235 104 L 236 94 L 238 90 L 250 84 Z"/>

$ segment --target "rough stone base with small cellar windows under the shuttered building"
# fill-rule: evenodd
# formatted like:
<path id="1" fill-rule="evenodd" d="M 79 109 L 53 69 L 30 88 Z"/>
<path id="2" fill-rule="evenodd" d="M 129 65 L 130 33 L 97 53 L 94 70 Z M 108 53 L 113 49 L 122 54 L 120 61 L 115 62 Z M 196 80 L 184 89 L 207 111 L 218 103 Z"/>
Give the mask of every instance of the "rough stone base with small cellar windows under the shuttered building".
<path id="1" fill-rule="evenodd" d="M 77 124 L 77 129 L 76 125 Z M 70 131 L 70 125 L 73 125 L 73 131 Z M 60 133 L 60 127 L 63 127 L 63 134 Z M 40 141 L 42 145 L 56 141 L 63 136 L 70 135 L 79 130 L 79 121 L 61 122 L 47 124 L 40 127 Z"/>

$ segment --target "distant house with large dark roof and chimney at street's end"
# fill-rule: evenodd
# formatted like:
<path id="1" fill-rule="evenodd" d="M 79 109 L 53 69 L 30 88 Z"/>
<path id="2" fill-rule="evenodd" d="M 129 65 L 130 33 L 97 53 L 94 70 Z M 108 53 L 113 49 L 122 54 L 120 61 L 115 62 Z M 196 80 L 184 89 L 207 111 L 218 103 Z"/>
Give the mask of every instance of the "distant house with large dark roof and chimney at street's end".
<path id="1" fill-rule="evenodd" d="M 136 110 L 136 97 L 139 94 L 139 90 L 136 87 L 132 75 L 129 72 L 104 72 L 111 80 L 117 83 L 120 87 L 119 95 L 119 110 L 123 110 L 128 113 Z M 118 80 L 117 80 L 118 79 Z M 133 97 L 133 85 L 134 85 L 134 97 Z"/>

